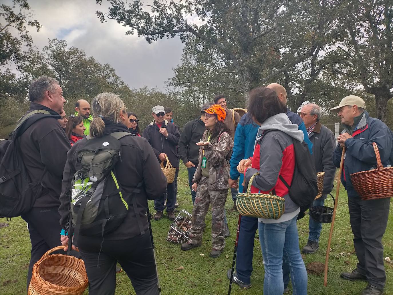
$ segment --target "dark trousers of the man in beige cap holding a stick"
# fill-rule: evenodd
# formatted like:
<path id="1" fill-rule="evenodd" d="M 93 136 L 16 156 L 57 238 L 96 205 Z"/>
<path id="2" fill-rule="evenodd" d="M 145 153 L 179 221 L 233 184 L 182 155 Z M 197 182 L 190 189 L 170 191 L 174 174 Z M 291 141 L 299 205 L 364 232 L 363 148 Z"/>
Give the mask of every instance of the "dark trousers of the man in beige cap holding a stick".
<path id="1" fill-rule="evenodd" d="M 386 281 L 382 236 L 387 226 L 389 205 L 390 198 L 369 201 L 348 198 L 358 271 L 380 289 L 384 288 Z"/>

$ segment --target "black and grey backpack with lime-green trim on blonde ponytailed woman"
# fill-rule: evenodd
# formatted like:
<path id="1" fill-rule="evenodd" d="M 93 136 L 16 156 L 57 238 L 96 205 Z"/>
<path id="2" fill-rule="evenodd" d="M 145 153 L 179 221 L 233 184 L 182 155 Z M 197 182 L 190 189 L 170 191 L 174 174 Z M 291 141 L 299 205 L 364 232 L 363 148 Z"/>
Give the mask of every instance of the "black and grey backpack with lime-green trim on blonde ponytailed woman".
<path id="1" fill-rule="evenodd" d="M 125 194 L 116 179 L 114 166 L 121 160 L 120 138 L 135 136 L 127 132 L 115 132 L 103 137 L 86 136 L 86 144 L 78 152 L 82 168 L 73 176 L 70 189 L 70 214 L 68 236 L 73 234 L 73 244 L 78 236 L 104 237 L 116 230 L 127 216 L 129 205 L 136 210 L 135 194 L 141 192 L 139 183 L 131 193 Z M 135 211 L 136 213 L 136 211 Z M 141 231 L 141 220 L 136 213 Z"/>

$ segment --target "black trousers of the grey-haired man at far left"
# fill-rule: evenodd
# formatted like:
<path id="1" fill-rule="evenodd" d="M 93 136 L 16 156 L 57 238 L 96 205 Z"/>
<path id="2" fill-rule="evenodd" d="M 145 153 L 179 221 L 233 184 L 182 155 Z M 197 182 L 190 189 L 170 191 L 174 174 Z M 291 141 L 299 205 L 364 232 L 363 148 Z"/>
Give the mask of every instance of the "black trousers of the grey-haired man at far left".
<path id="1" fill-rule="evenodd" d="M 31 259 L 27 275 L 27 288 L 29 288 L 33 265 L 48 250 L 60 246 L 61 226 L 59 223 L 60 215 L 57 211 L 59 207 L 32 208 L 29 212 L 22 215 L 22 218 L 29 224 L 29 234 L 31 241 Z M 65 254 L 64 251 L 57 253 Z M 75 257 L 81 257 L 79 253 L 71 252 Z"/>

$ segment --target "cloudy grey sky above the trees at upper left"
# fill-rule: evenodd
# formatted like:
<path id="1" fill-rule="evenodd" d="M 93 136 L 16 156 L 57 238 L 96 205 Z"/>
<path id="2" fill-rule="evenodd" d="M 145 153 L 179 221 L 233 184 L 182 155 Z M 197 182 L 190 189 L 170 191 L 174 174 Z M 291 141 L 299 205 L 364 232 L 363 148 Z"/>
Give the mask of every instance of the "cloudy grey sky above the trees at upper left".
<path id="1" fill-rule="evenodd" d="M 7 2 L 7 1 L 5 1 Z M 180 64 L 183 44 L 178 37 L 148 44 L 143 37 L 125 35 L 127 28 L 114 20 L 101 23 L 95 11 L 108 11 L 105 0 L 28 0 L 34 19 L 42 25 L 39 32 L 29 29 L 34 45 L 42 49 L 48 39 L 64 39 L 93 56 L 99 63 L 109 63 L 131 88 L 143 86 L 165 90 L 165 81 Z"/>

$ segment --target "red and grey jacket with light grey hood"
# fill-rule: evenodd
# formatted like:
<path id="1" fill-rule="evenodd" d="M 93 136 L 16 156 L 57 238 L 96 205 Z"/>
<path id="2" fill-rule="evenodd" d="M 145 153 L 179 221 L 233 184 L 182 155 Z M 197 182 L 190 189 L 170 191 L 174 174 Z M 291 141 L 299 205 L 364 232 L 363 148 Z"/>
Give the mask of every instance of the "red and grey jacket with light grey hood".
<path id="1" fill-rule="evenodd" d="M 268 118 L 259 127 L 252 168 L 245 171 L 246 181 L 259 172 L 252 183 L 252 193 L 269 194 L 272 192 L 285 199 L 285 211 L 280 219 L 263 219 L 263 222 L 277 223 L 294 218 L 299 206 L 289 197 L 288 188 L 279 180 L 281 175 L 288 184 L 292 183 L 295 168 L 293 140 L 303 141 L 303 132 L 298 125 L 292 124 L 286 114 L 277 114 Z M 261 220 L 260 220 L 261 221 Z"/>

